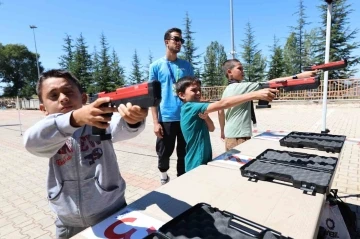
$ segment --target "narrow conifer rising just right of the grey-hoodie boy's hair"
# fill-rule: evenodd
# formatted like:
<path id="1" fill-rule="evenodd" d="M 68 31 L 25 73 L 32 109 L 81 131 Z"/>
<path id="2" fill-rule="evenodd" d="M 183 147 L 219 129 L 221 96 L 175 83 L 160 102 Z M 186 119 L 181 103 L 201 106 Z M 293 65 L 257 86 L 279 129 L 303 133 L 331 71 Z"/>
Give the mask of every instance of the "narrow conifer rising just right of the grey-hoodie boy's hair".
<path id="1" fill-rule="evenodd" d="M 74 59 L 71 64 L 71 72 L 76 76 L 76 78 L 78 78 L 85 91 L 89 93 L 89 87 L 92 84 L 92 61 L 87 48 L 88 46 L 85 43 L 85 39 L 80 33 L 79 38 L 76 40 Z"/>

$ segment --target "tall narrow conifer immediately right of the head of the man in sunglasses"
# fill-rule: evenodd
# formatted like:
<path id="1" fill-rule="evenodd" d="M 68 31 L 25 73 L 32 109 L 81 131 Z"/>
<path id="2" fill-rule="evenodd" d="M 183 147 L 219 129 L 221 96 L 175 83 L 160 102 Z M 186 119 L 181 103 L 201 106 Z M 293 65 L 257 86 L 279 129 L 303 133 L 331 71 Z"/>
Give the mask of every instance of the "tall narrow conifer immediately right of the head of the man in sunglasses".
<path id="1" fill-rule="evenodd" d="M 198 47 L 195 47 L 194 44 L 194 37 L 193 34 L 195 32 L 191 31 L 191 19 L 189 17 L 188 12 L 186 12 L 185 15 L 185 29 L 182 31 L 183 32 L 183 38 L 185 39 L 185 43 L 182 46 L 182 53 L 180 54 L 180 58 L 187 60 L 188 62 L 190 62 L 190 64 L 194 67 L 194 69 L 196 69 L 199 64 L 200 61 L 198 61 L 197 59 L 200 58 L 200 55 L 196 55 L 195 51 L 198 49 Z"/>

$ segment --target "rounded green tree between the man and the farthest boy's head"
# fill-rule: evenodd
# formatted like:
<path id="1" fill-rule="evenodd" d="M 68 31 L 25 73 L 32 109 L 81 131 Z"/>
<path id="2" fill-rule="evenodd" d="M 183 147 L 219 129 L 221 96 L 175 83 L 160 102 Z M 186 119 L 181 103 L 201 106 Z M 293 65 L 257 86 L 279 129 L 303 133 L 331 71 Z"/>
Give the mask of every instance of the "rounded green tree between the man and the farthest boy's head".
<path id="1" fill-rule="evenodd" d="M 204 57 L 202 81 L 205 86 L 224 85 L 225 75 L 221 67 L 226 59 L 224 46 L 217 41 L 211 42 L 206 48 L 206 55 Z"/>

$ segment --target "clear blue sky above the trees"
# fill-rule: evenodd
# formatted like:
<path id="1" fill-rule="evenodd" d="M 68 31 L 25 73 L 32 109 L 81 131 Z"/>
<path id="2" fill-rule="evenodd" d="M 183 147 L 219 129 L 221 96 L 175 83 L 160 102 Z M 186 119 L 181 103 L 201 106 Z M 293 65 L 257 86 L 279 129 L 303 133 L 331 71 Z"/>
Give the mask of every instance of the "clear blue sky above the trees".
<path id="1" fill-rule="evenodd" d="M 188 12 L 195 33 L 197 54 L 206 52 L 211 41 L 218 41 L 231 58 L 230 1 L 229 0 L 0 0 L 0 42 L 24 44 L 35 52 L 32 29 L 35 29 L 37 50 L 45 69 L 58 68 L 66 34 L 77 38 L 83 34 L 89 52 L 99 49 L 103 33 L 109 46 L 118 53 L 126 74 L 132 69 L 135 49 L 143 66 L 148 64 L 151 51 L 154 59 L 165 55 L 163 43 L 167 29 L 184 29 Z M 323 0 L 304 0 L 310 30 L 320 26 L 318 5 Z M 348 0 L 354 12 L 349 17 L 351 30 L 360 29 L 360 0 Z M 250 22 L 258 49 L 269 58 L 269 46 L 276 35 L 283 45 L 295 26 L 299 0 L 233 0 L 235 48 L 245 37 L 245 24 Z M 355 41 L 360 42 L 360 32 Z M 360 49 L 355 51 L 360 56 Z M 359 66 L 358 66 L 359 67 Z M 357 73 L 356 77 L 360 77 Z M 1 89 L 0 89 L 1 90 Z M 1 93 L 1 92 L 0 92 Z"/>

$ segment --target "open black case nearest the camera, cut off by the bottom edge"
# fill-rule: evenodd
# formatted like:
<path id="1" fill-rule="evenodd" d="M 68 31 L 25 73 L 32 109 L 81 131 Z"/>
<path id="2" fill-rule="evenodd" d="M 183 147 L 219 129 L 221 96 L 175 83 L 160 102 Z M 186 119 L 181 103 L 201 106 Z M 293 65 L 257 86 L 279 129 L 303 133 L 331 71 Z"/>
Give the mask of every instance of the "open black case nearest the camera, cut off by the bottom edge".
<path id="1" fill-rule="evenodd" d="M 206 203 L 199 203 L 164 224 L 159 231 L 168 238 L 283 239 L 281 233 Z"/>

